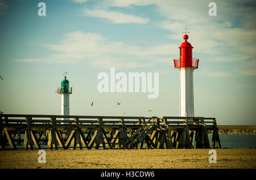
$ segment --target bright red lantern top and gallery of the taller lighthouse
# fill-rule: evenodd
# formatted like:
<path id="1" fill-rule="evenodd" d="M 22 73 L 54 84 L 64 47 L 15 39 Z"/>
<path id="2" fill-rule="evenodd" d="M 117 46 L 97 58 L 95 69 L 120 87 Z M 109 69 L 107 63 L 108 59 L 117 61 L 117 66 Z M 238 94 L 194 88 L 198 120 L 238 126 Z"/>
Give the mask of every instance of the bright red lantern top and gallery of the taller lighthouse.
<path id="1" fill-rule="evenodd" d="M 199 59 L 192 58 L 192 45 L 187 41 L 188 35 L 184 35 L 184 42 L 180 45 L 180 58 L 174 59 L 174 67 L 194 67 L 198 68 Z"/>

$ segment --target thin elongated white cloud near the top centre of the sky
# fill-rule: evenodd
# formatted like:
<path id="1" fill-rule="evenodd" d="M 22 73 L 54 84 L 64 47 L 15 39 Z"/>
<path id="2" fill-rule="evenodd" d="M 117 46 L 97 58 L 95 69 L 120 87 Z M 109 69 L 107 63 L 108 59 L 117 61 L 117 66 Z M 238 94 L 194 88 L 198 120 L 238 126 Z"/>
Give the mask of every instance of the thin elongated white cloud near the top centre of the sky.
<path id="1" fill-rule="evenodd" d="M 122 23 L 137 23 L 146 24 L 149 19 L 140 18 L 130 14 L 122 14 L 121 12 L 105 11 L 105 10 L 84 10 L 86 16 L 93 16 L 97 18 L 104 18 L 110 20 L 114 24 Z"/>

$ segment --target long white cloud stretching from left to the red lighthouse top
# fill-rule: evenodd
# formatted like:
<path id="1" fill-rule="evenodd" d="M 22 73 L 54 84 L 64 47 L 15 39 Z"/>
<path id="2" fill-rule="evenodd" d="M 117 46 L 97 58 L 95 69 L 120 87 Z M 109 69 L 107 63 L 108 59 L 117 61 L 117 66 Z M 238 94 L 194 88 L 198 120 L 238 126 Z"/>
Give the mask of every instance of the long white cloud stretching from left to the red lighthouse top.
<path id="1" fill-rule="evenodd" d="M 57 44 L 43 44 L 53 50 L 47 58 L 15 59 L 16 62 L 79 63 L 88 62 L 99 68 L 149 67 L 156 63 L 166 65 L 166 56 L 176 54 L 177 46 L 172 44 L 141 48 L 123 42 L 110 41 L 97 33 L 70 32 Z M 175 50 L 173 50 L 175 49 Z M 170 59 L 172 63 L 172 59 Z M 168 63 L 169 64 L 169 63 Z"/>

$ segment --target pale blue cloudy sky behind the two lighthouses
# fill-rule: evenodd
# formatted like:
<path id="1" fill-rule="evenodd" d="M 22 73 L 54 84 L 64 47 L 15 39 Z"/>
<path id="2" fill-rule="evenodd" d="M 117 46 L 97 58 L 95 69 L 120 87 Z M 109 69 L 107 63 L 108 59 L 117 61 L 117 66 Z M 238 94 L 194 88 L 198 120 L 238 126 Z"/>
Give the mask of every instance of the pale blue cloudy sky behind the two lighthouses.
<path id="1" fill-rule="evenodd" d="M 39 2 L 46 16 L 38 15 Z M 210 2 L 217 16 L 209 15 Z M 195 116 L 256 125 L 255 7 L 249 0 L 0 0 L 0 111 L 60 114 L 55 91 L 68 72 L 70 115 L 179 116 L 173 59 L 186 26 L 193 58 L 200 59 Z M 97 75 L 110 68 L 159 72 L 158 98 L 98 92 Z"/>

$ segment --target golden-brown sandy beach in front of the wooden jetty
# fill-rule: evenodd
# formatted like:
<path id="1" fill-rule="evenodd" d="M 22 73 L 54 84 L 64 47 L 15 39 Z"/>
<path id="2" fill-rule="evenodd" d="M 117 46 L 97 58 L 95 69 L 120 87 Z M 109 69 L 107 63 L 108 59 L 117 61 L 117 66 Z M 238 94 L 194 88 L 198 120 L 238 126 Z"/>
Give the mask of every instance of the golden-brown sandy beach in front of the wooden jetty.
<path id="1" fill-rule="evenodd" d="M 256 149 L 215 149 L 217 162 L 210 164 L 210 149 L 108 149 L 46 150 L 46 163 L 38 162 L 37 150 L 0 151 L 0 168 L 256 168 Z"/>

